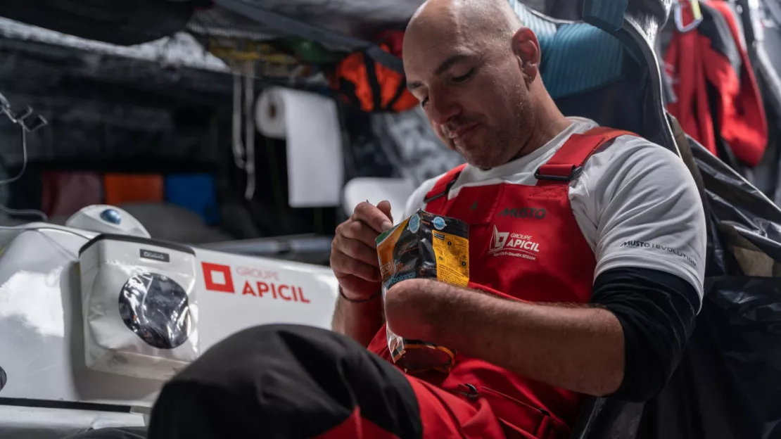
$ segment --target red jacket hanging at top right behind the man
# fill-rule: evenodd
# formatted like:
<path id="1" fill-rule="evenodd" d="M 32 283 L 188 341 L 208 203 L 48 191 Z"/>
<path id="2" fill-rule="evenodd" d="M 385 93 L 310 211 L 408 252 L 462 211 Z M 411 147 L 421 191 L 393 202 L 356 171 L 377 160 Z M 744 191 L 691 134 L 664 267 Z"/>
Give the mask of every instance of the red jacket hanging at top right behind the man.
<path id="1" fill-rule="evenodd" d="M 676 102 L 667 109 L 676 116 L 686 134 L 718 155 L 717 137 L 736 158 L 756 166 L 765 153 L 768 127 L 765 108 L 740 39 L 740 30 L 726 2 L 701 2 L 703 21 L 694 30 L 676 32 L 665 53 L 665 69 L 674 78 Z M 688 3 L 681 5 L 683 23 L 694 20 Z M 729 34 L 715 20 L 723 17 Z M 738 52 L 734 66 L 727 48 Z M 717 92 L 711 105 L 708 86 Z M 718 132 L 715 132 L 718 127 Z"/>

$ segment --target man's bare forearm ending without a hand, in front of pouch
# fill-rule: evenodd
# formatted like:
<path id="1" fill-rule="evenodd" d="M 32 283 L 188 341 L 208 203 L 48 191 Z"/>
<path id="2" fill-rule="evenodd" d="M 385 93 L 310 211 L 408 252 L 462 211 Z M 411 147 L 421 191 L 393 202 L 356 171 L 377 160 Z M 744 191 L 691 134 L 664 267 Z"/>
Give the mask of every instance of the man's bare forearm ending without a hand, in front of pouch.
<path id="1" fill-rule="evenodd" d="M 425 337 L 571 391 L 601 396 L 621 385 L 623 330 L 605 309 L 515 302 L 437 282 L 417 285 L 423 291 L 406 296 L 416 302 L 408 309 L 420 309 L 419 319 L 427 322 L 423 334 L 403 334 L 404 328 L 397 334 Z M 398 316 L 386 312 L 396 331 Z"/>

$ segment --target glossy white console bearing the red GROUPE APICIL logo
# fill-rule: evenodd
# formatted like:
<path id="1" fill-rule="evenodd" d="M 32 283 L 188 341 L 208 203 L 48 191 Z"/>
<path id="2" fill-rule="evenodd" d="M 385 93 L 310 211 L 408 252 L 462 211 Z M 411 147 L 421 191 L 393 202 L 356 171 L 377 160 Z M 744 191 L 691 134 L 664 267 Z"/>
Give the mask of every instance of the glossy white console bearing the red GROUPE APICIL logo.
<path id="1" fill-rule="evenodd" d="M 33 405 L 44 407 L 60 405 L 62 412 L 83 407 L 78 404 L 70 407 L 69 403 L 137 407 L 141 412 L 147 411 L 164 381 L 97 371 L 88 368 L 85 361 L 79 252 L 97 234 L 44 223 L 26 227 L 25 230 L 0 230 L 0 243 L 4 244 L 0 254 L 0 368 L 5 372 L 0 373 L 5 375 L 5 383 L 0 380 L 0 437 L 11 437 L 3 435 L 4 419 L 14 419 L 16 424 L 23 422 L 16 413 L 20 410 L 20 400 L 37 401 Z M 139 244 L 142 248 L 165 252 L 161 250 L 165 245 L 155 248 L 148 245 L 154 241 L 138 239 L 144 241 L 143 245 Z M 109 253 L 114 251 L 116 248 L 109 248 Z M 185 261 L 186 258 L 180 261 L 191 264 L 194 270 L 190 289 L 197 296 L 197 316 L 193 323 L 197 321 L 200 352 L 239 330 L 266 323 L 330 328 L 337 298 L 337 280 L 330 269 L 200 248 L 192 251 L 191 262 Z M 104 248 L 104 259 L 116 257 L 105 256 Z M 154 256 L 162 257 L 150 257 Z M 90 268 L 82 267 L 82 270 L 89 272 Z M 113 298 L 109 294 L 108 302 L 116 301 L 116 316 L 119 316 L 123 286 L 117 286 L 116 280 L 101 282 L 108 285 L 103 288 L 109 293 L 112 288 L 116 290 Z M 180 276 L 177 283 L 187 284 L 187 276 Z M 181 286 L 187 290 L 187 285 Z M 95 284 L 87 288 L 101 289 Z M 124 346 L 128 351 L 127 340 L 104 340 L 104 348 L 107 343 Z M 129 349 L 133 350 L 132 344 Z M 187 359 L 187 355 L 176 359 Z M 14 413 L 4 411 L 3 404 L 11 401 L 16 407 L 5 405 L 5 408 Z M 31 411 L 27 412 L 30 422 L 45 423 Z M 100 425 L 99 419 L 107 425 L 143 425 L 138 417 L 120 420 L 116 412 L 111 413 L 109 409 L 105 415 L 87 418 L 92 419 L 91 425 Z M 49 419 L 54 419 L 53 423 L 61 423 L 66 418 L 73 419 L 73 423 L 84 422 L 71 415 L 55 418 Z"/>

